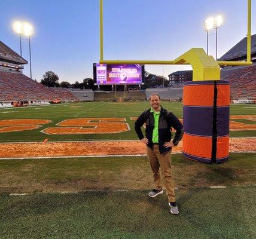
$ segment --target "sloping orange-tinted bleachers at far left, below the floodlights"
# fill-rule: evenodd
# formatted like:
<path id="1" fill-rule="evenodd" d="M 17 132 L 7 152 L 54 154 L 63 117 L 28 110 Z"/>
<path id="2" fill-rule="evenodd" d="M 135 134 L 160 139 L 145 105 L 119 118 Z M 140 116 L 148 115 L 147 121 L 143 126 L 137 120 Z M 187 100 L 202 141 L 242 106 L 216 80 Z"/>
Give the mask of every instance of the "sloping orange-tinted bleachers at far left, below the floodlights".
<path id="1" fill-rule="evenodd" d="M 54 91 L 33 81 L 20 72 L 0 71 L 0 101 L 11 102 L 17 100 L 28 101 L 75 101 L 72 93 Z"/>

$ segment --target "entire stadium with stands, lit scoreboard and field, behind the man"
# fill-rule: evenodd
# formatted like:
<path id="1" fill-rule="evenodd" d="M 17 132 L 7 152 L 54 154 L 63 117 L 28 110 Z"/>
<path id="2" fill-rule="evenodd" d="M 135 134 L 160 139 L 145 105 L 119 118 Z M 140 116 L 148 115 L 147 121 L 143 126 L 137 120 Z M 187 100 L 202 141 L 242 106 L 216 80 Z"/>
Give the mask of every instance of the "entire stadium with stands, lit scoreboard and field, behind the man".
<path id="1" fill-rule="evenodd" d="M 247 42 L 217 60 L 246 62 Z M 182 141 L 172 149 L 173 216 L 165 195 L 147 197 L 152 173 L 134 124 L 152 94 L 184 122 L 194 69 L 165 79 L 146 63 L 100 57 L 91 88 L 50 87 L 0 41 L 0 238 L 255 238 L 256 34 L 250 51 L 251 65 L 220 70 L 230 84 L 228 160 L 186 158 Z"/>

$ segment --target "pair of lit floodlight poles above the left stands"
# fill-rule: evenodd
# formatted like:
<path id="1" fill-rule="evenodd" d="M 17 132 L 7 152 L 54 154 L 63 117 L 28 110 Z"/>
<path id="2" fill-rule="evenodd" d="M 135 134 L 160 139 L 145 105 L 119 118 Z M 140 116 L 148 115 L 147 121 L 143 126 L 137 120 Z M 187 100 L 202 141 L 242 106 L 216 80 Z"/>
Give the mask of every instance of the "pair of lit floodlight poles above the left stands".
<path id="1" fill-rule="evenodd" d="M 22 36 L 28 36 L 29 38 L 29 65 L 32 79 L 31 69 L 31 36 L 33 35 L 33 26 L 27 22 L 16 21 L 13 23 L 14 32 L 20 35 L 20 56 L 22 56 Z"/>

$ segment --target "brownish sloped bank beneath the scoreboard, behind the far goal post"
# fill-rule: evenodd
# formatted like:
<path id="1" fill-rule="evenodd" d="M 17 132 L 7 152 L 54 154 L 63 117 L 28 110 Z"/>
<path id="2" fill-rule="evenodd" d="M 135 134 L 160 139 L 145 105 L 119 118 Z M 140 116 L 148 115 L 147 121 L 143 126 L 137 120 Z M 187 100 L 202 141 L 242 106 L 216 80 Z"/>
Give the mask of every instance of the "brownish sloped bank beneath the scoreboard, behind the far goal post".
<path id="1" fill-rule="evenodd" d="M 117 92 L 115 97 L 114 91 L 95 91 L 95 101 L 115 101 L 118 97 L 124 96 L 124 91 Z M 122 97 L 124 101 L 127 100 L 146 100 L 145 91 L 126 91 L 126 97 Z"/>

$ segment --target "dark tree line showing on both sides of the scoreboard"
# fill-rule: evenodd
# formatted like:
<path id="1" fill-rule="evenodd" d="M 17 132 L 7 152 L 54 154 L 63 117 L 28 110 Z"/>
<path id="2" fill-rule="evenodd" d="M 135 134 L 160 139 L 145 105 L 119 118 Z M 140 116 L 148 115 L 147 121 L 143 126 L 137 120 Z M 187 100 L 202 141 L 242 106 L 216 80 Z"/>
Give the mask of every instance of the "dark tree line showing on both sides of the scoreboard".
<path id="1" fill-rule="evenodd" d="M 42 76 L 41 84 L 47 87 L 63 87 L 63 88 L 80 88 L 80 89 L 92 89 L 96 90 L 97 85 L 94 84 L 92 78 L 84 78 L 83 82 L 76 81 L 74 84 L 70 84 L 68 81 L 59 82 L 59 76 L 52 72 L 47 71 Z M 154 75 L 150 72 L 145 71 L 144 75 L 144 85 L 141 85 L 142 89 L 148 87 L 161 87 L 164 84 L 164 87 L 167 87 L 169 80 L 160 75 Z M 130 85 L 130 87 L 138 87 L 138 85 Z M 100 90 L 111 90 L 112 85 L 100 85 Z"/>

